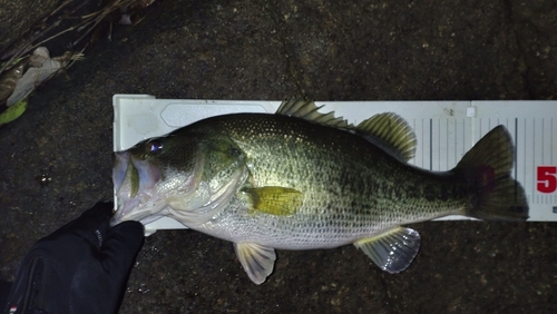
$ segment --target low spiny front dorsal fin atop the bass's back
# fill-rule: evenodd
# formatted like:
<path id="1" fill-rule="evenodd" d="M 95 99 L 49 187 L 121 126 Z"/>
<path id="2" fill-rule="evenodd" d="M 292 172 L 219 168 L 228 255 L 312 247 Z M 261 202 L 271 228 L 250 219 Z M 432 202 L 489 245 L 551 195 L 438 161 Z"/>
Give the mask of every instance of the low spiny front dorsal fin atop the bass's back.
<path id="1" fill-rule="evenodd" d="M 335 117 L 334 111 L 328 114 L 321 114 L 317 110 L 323 108 L 323 106 L 315 106 L 313 101 L 306 101 L 303 99 L 290 99 L 283 101 L 277 115 L 296 117 L 307 121 L 312 121 L 322 126 L 335 127 L 335 128 L 348 128 L 349 124 L 342 117 Z"/>

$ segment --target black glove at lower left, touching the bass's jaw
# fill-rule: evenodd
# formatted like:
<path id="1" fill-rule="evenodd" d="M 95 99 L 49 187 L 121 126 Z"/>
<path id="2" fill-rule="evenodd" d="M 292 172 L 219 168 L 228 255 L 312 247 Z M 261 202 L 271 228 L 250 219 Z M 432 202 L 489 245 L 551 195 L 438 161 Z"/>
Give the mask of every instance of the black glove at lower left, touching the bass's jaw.
<path id="1" fill-rule="evenodd" d="M 4 312 L 118 312 L 144 228 L 137 222 L 110 228 L 111 210 L 113 203 L 97 203 L 37 242 L 18 269 Z"/>

